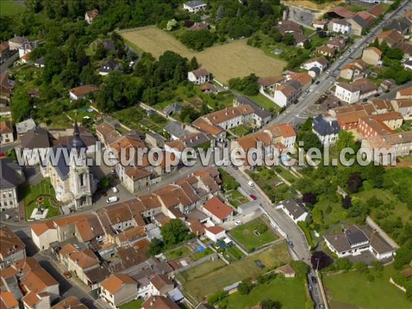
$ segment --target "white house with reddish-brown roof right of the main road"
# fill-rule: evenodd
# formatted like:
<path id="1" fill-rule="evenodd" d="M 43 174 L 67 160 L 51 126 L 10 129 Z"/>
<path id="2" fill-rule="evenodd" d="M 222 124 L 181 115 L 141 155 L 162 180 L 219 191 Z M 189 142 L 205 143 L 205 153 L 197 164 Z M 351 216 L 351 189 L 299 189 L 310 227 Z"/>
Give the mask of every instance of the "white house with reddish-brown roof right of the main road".
<path id="1" fill-rule="evenodd" d="M 343 102 L 355 103 L 371 95 L 378 93 L 376 84 L 367 78 L 361 78 L 351 84 L 347 82 L 336 82 L 334 95 Z"/>

